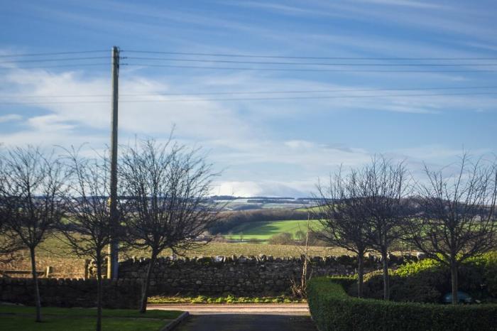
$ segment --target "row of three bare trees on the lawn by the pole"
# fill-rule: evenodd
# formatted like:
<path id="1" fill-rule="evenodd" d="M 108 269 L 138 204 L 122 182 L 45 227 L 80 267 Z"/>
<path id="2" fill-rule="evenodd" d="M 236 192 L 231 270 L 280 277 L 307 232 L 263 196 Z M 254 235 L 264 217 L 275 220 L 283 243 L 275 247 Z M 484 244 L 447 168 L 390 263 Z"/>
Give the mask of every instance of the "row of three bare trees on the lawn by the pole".
<path id="1" fill-rule="evenodd" d="M 41 320 L 35 250 L 50 235 L 78 256 L 97 264 L 97 330 L 102 325 L 102 264 L 111 233 L 107 153 L 62 156 L 40 148 L 11 148 L 0 157 L 0 253 L 28 249 L 34 283 L 36 320 Z M 124 247 L 151 254 L 143 281 L 140 311 L 158 255 L 198 244 L 195 239 L 217 220 L 219 208 L 207 203 L 217 175 L 198 149 L 153 140 L 125 146 L 119 160 L 119 229 Z"/>

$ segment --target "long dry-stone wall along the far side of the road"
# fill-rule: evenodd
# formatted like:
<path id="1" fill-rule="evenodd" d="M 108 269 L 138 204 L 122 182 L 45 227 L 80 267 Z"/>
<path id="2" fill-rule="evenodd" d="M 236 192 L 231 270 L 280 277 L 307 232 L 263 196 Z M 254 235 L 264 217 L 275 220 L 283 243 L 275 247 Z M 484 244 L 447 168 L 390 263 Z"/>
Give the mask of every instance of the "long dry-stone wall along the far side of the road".
<path id="1" fill-rule="evenodd" d="M 414 257 L 391 258 L 391 266 Z M 145 278 L 148 259 L 130 259 L 119 264 L 119 278 Z M 217 295 L 275 295 L 290 291 L 291 280 L 299 281 L 301 258 L 273 258 L 273 256 L 217 256 L 192 259 L 160 258 L 151 278 L 151 295 L 190 294 Z M 357 261 L 351 256 L 317 256 L 311 259 L 312 276 L 356 273 Z M 381 261 L 370 256 L 365 271 L 381 268 Z"/>

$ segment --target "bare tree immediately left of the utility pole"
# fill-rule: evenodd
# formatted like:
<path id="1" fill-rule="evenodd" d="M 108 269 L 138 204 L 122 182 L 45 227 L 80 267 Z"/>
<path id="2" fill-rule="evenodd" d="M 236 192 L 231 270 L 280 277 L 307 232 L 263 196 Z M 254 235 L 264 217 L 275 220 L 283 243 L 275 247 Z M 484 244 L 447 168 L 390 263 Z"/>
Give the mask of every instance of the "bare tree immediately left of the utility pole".
<path id="1" fill-rule="evenodd" d="M 67 222 L 61 224 L 60 232 L 75 254 L 90 256 L 97 264 L 97 330 L 101 330 L 102 264 L 111 231 L 110 163 L 105 156 L 82 158 L 75 148 L 67 150 L 65 159 L 71 176 L 63 196 Z"/>

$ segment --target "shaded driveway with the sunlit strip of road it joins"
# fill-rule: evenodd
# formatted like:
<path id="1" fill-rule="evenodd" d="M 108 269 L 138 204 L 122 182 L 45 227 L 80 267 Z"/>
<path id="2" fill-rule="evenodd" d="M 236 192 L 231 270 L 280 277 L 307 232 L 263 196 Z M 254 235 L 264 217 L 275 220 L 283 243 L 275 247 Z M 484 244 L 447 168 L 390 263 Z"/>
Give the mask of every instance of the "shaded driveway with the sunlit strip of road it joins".
<path id="1" fill-rule="evenodd" d="M 316 331 L 307 304 L 148 305 L 148 309 L 186 310 L 178 331 Z"/>

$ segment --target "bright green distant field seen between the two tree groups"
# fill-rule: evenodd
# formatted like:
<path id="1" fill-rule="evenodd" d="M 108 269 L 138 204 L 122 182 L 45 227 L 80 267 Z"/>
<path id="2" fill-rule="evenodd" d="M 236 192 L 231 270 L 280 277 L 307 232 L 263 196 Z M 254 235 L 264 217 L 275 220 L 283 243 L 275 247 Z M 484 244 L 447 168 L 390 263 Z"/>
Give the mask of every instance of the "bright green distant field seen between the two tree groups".
<path id="1" fill-rule="evenodd" d="M 310 221 L 311 229 L 319 229 L 321 226 L 317 219 Z M 288 220 L 288 221 L 271 221 L 271 222 L 251 222 L 241 224 L 231 229 L 229 234 L 225 234 L 229 239 L 258 239 L 266 241 L 275 234 L 288 232 L 293 234 L 298 231 L 307 232 L 307 220 Z"/>

